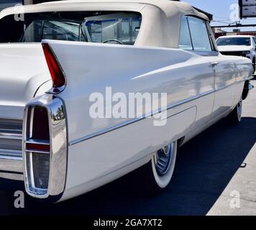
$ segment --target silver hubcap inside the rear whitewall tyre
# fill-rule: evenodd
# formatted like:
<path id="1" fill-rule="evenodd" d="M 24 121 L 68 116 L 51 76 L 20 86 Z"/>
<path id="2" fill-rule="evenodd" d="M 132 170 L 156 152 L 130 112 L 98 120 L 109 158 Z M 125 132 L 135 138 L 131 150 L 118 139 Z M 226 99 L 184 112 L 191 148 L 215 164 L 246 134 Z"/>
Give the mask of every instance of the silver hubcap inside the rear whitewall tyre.
<path id="1" fill-rule="evenodd" d="M 168 144 L 155 154 L 155 168 L 160 176 L 164 176 L 170 168 L 173 159 L 173 147 L 174 144 Z"/>

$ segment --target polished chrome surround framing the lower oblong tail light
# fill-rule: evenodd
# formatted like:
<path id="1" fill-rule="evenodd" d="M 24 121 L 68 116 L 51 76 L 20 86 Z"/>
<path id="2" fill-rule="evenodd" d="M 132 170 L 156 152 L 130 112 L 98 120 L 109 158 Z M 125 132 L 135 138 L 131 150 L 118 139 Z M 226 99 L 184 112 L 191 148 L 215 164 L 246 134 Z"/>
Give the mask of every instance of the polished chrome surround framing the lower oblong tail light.
<path id="1" fill-rule="evenodd" d="M 45 108 L 48 114 L 50 129 L 50 172 L 47 189 L 35 188 L 35 184 L 33 185 L 33 172 L 32 170 L 28 170 L 29 168 L 32 169 L 32 167 L 28 166 L 30 166 L 29 164 L 31 164 L 32 162 L 32 152 L 34 151 L 31 149 L 25 149 L 26 143 L 38 142 L 38 140 L 31 139 L 32 129 L 27 130 L 27 124 L 32 122 L 29 118 L 29 116 L 31 115 L 29 114 L 29 111 L 31 111 L 35 107 Z M 56 118 L 57 115 L 60 114 L 60 110 L 58 110 L 60 108 L 63 109 L 63 113 L 61 114 L 61 116 L 58 116 L 58 120 L 56 120 L 54 119 L 54 117 Z M 68 157 L 68 136 L 65 114 L 65 105 L 63 101 L 55 95 L 45 94 L 43 96 L 33 99 L 25 106 L 22 139 L 22 153 L 24 158 L 24 184 L 27 193 L 32 197 L 44 199 L 57 197 L 62 195 L 65 190 Z M 30 127 L 31 124 L 29 128 Z M 60 148 L 56 149 L 56 146 L 60 146 Z M 29 162 L 27 162 L 27 154 L 29 154 Z M 31 180 L 29 180 L 29 178 L 31 178 Z"/>

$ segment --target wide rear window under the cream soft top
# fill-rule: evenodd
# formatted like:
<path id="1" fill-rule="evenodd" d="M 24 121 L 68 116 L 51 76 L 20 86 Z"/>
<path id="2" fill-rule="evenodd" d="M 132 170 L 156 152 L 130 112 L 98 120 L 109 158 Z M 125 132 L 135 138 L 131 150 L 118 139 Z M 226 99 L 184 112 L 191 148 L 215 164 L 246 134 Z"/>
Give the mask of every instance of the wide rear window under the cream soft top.
<path id="1" fill-rule="evenodd" d="M 134 45 L 142 16 L 136 12 L 47 12 L 0 20 L 0 42 L 65 40 Z"/>

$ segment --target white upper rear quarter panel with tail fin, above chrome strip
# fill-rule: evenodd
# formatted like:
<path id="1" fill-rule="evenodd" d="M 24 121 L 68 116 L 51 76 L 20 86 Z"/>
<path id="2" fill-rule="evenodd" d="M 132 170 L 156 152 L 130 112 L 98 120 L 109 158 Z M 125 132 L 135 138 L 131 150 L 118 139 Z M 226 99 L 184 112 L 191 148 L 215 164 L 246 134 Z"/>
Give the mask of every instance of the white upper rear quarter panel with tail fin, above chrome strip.
<path id="1" fill-rule="evenodd" d="M 129 119 L 112 118 L 95 122 L 89 116 L 91 105 L 89 96 L 93 92 L 104 95 L 106 86 L 112 88 L 112 93 L 166 92 L 168 105 L 214 91 L 214 76 L 209 60 L 183 50 L 81 42 L 47 42 L 58 57 L 67 78 L 65 91 L 59 96 L 66 103 L 68 119 L 71 122 L 76 121 L 76 124 L 69 124 L 70 142 L 76 142 L 77 139 L 101 129 L 129 121 Z M 65 52 L 68 52 L 68 56 L 64 54 Z M 107 54 L 108 58 L 100 55 L 101 52 Z M 70 68 L 70 60 L 86 65 L 76 65 L 74 71 Z M 93 65 L 96 62 L 101 63 L 100 69 L 97 65 Z M 186 78 L 186 84 L 178 88 L 176 81 L 180 75 Z M 194 80 L 197 80 L 198 84 L 193 83 Z M 102 87 L 99 87 L 99 81 Z M 74 93 L 75 88 L 77 93 Z M 214 98 L 211 103 L 214 103 Z M 198 115 L 203 112 L 202 117 L 209 116 L 211 110 L 211 107 L 206 111 L 200 110 Z"/>

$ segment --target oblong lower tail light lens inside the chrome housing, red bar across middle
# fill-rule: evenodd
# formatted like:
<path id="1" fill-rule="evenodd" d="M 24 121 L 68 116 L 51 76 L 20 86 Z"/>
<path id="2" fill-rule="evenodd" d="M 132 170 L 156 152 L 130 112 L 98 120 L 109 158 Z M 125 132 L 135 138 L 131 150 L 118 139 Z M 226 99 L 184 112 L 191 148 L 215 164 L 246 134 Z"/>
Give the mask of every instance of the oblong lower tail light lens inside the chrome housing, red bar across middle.
<path id="1" fill-rule="evenodd" d="M 43 195 L 47 193 L 50 174 L 50 128 L 47 109 L 32 107 L 28 111 L 27 141 L 24 158 L 29 172 L 29 189 Z"/>

